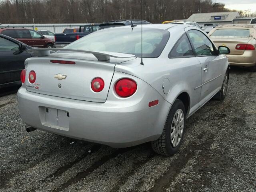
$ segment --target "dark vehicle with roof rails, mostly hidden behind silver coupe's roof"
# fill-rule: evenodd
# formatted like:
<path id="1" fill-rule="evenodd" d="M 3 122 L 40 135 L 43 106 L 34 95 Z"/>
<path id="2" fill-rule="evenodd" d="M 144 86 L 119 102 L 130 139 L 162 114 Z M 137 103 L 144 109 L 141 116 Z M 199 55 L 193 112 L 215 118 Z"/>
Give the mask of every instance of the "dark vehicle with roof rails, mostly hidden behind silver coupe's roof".
<path id="1" fill-rule="evenodd" d="M 100 27 L 98 30 L 110 28 L 110 27 L 120 27 L 120 26 L 126 26 L 126 25 L 138 25 L 138 24 L 151 24 L 148 21 L 145 20 L 112 20 L 112 21 L 105 21 L 102 24 L 100 24 Z"/>

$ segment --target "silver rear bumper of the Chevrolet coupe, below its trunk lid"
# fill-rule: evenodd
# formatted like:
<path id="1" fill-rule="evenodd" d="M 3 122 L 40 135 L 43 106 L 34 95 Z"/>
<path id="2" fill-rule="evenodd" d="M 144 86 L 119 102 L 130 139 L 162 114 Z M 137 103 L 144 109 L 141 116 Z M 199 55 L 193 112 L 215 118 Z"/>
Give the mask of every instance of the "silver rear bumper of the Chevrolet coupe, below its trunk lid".
<path id="1" fill-rule="evenodd" d="M 159 104 L 149 108 L 148 94 L 155 95 Z M 118 148 L 159 138 L 170 109 L 170 103 L 153 88 L 144 98 L 132 104 L 122 101 L 113 103 L 107 100 L 105 103 L 97 103 L 59 98 L 29 92 L 24 86 L 18 90 L 17 95 L 20 116 L 29 126 Z M 63 128 L 46 124 L 45 107 L 68 112 L 68 124 Z"/>

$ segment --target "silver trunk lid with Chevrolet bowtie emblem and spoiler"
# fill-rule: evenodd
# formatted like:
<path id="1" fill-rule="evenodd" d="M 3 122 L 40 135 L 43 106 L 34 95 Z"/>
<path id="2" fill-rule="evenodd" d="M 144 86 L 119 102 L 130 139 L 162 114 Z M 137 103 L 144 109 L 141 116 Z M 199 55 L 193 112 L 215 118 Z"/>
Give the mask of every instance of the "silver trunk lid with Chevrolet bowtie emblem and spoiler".
<path id="1" fill-rule="evenodd" d="M 92 54 L 73 52 L 30 58 L 26 64 L 26 88 L 39 94 L 105 102 L 115 65 L 131 59 L 133 58 L 111 58 L 108 61 L 99 61 Z M 56 63 L 56 60 L 72 61 L 75 64 Z M 33 84 L 28 80 L 31 70 L 36 72 L 36 81 Z M 91 89 L 91 82 L 97 77 L 104 80 L 104 89 L 98 93 Z"/>

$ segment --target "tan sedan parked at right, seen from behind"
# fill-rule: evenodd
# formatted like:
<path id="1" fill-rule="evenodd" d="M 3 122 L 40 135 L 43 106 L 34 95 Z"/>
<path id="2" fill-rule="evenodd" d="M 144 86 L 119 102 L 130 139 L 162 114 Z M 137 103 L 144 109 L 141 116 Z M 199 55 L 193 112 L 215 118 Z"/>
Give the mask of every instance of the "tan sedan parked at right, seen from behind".
<path id="1" fill-rule="evenodd" d="M 231 24 L 214 28 L 208 36 L 218 46 L 230 48 L 230 65 L 256 71 L 256 25 Z"/>

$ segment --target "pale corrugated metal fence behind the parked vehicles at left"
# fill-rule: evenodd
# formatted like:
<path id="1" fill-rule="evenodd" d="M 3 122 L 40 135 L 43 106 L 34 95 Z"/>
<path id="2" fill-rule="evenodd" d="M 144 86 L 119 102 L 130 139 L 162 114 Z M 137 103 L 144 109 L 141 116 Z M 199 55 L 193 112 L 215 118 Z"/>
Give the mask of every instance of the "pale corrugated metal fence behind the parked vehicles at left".
<path id="1" fill-rule="evenodd" d="M 72 24 L 2 24 L 0 28 L 3 27 L 25 27 L 34 30 L 50 30 L 54 33 L 62 33 L 65 28 L 79 28 L 79 26 L 84 26 L 90 23 L 72 23 Z"/>

